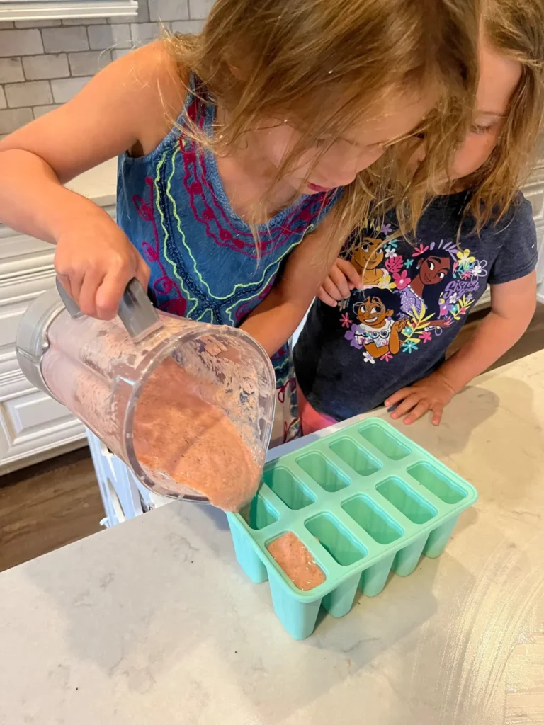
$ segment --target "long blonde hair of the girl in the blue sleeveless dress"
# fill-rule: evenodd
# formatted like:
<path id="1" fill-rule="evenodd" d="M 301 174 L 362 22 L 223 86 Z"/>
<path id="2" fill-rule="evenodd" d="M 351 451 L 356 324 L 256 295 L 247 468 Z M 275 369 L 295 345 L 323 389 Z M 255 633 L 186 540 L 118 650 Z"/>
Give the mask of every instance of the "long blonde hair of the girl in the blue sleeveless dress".
<path id="1" fill-rule="evenodd" d="M 300 141 L 281 178 L 317 138 L 339 138 L 377 100 L 432 87 L 440 102 L 426 134 L 438 141 L 425 163 L 443 168 L 465 133 L 476 88 L 477 2 L 218 0 L 199 36 L 165 39 L 179 67 L 194 72 L 226 111 L 221 139 L 197 128 L 185 133 L 221 153 L 263 117 L 289 119 Z M 391 203 L 388 175 L 396 168 L 388 155 L 345 188 L 335 207 L 337 239 L 363 225 L 371 202 L 375 210 Z"/>

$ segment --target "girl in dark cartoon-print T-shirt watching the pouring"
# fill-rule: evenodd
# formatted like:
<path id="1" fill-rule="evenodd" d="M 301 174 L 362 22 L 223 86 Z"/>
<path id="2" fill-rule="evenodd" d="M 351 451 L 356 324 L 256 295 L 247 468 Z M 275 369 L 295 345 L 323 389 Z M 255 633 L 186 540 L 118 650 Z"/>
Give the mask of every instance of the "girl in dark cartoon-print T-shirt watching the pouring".
<path id="1" fill-rule="evenodd" d="M 371 225 L 355 265 L 337 260 L 310 310 L 294 350 L 305 434 L 382 404 L 405 423 L 431 410 L 437 425 L 532 318 L 535 225 L 516 187 L 543 114 L 544 4 L 493 0 L 486 12 L 477 109 L 448 192 L 424 212 L 413 245 L 394 217 Z M 490 314 L 444 362 L 488 284 Z"/>

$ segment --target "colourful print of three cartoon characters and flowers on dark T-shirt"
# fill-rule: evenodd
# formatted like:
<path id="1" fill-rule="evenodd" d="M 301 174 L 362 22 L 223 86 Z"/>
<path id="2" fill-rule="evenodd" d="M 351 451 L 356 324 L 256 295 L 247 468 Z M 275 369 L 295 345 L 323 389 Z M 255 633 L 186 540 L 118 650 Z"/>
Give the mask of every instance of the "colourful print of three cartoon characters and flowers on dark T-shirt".
<path id="1" fill-rule="evenodd" d="M 340 303 L 345 339 L 372 365 L 432 344 L 469 312 L 487 276 L 487 261 L 453 241 L 413 248 L 390 239 L 391 232 L 391 225 L 382 225 L 355 247 L 351 259 L 363 273 L 365 289 Z"/>

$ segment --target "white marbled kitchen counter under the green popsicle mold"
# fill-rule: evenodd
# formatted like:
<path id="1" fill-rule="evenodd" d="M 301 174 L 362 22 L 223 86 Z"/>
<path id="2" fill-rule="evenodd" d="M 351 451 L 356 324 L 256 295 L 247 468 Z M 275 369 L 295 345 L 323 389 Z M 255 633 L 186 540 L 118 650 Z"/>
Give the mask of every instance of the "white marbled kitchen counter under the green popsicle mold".
<path id="1" fill-rule="evenodd" d="M 173 502 L 0 574 L 0 724 L 542 723 L 543 371 L 544 351 L 408 429 L 479 502 L 442 557 L 303 642 L 211 507 Z"/>

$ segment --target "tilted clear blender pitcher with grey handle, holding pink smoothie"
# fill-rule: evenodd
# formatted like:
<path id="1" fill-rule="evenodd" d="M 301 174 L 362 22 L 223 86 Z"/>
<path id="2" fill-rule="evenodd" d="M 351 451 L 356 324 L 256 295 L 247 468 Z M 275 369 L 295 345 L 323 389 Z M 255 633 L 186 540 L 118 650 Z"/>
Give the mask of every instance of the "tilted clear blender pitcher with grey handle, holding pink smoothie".
<path id="1" fill-rule="evenodd" d="M 258 486 L 276 383 L 237 328 L 155 310 L 136 279 L 118 317 L 86 317 L 57 281 L 23 315 L 17 359 L 153 492 L 238 510 Z"/>

